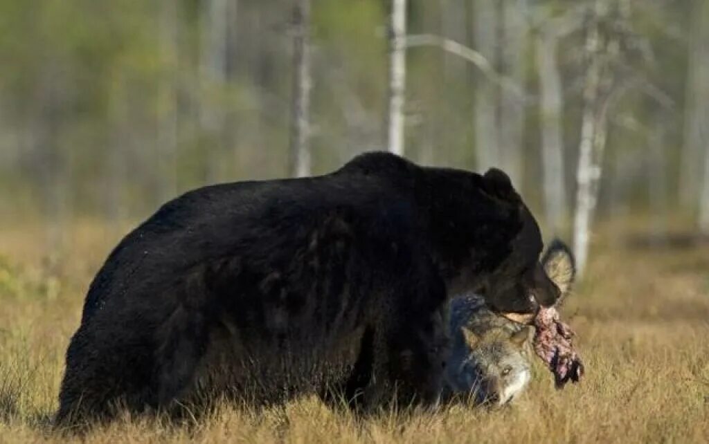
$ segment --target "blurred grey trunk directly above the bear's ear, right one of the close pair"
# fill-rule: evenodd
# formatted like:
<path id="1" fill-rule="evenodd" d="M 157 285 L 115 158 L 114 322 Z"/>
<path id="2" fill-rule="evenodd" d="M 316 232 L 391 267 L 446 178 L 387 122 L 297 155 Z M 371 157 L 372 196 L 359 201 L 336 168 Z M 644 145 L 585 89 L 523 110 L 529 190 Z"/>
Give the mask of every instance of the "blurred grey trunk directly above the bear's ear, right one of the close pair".
<path id="1" fill-rule="evenodd" d="M 522 144 L 525 127 L 527 0 L 504 0 L 502 8 L 502 72 L 520 89 L 500 89 L 500 162 L 515 188 L 521 190 L 524 163 Z"/>

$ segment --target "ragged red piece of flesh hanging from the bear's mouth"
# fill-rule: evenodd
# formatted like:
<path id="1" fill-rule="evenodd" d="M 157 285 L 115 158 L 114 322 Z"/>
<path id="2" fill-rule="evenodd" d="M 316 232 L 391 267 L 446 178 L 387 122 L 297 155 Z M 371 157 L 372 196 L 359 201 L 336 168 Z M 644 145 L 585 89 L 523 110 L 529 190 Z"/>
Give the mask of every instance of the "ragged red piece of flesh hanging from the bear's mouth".
<path id="1" fill-rule="evenodd" d="M 584 375 L 584 363 L 574 349 L 574 331 L 559 319 L 555 307 L 541 307 L 534 321 L 534 349 L 554 373 L 557 388 L 566 382 L 579 382 Z"/>

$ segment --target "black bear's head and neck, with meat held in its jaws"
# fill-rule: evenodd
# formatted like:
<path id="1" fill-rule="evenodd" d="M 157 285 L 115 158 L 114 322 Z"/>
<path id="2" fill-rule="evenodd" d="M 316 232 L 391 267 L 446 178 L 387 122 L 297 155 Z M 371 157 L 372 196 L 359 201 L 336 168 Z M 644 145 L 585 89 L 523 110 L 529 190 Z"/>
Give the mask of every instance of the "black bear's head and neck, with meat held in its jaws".
<path id="1" fill-rule="evenodd" d="M 478 292 L 494 312 L 523 323 L 553 305 L 561 292 L 539 261 L 539 225 L 506 173 L 430 171 L 431 227 L 448 294 Z"/>

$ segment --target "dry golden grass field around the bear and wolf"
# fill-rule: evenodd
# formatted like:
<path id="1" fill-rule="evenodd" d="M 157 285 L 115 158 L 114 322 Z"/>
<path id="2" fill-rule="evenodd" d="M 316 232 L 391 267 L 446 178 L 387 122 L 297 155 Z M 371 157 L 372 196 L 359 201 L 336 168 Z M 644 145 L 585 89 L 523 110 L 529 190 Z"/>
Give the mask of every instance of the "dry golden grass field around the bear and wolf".
<path id="1" fill-rule="evenodd" d="M 69 336 L 89 281 L 120 230 L 82 224 L 55 266 L 31 226 L 0 230 L 0 443 L 55 442 Z M 584 280 L 563 309 L 579 334 L 586 379 L 563 391 L 537 365 L 510 408 L 454 406 L 434 415 L 359 424 L 315 399 L 282 411 L 224 406 L 190 427 L 124 419 L 98 443 L 709 442 L 709 246 L 631 251 L 598 239 Z M 79 438 L 74 438 L 79 440 Z"/>

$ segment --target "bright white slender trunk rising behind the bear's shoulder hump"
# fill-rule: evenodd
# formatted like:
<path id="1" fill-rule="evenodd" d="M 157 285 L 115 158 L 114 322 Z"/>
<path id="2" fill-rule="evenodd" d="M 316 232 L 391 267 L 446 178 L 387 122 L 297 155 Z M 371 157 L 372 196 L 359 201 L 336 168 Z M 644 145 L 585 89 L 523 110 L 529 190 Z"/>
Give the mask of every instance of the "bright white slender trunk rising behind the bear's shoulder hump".
<path id="1" fill-rule="evenodd" d="M 387 147 L 403 155 L 403 106 L 406 92 L 406 0 L 391 1 L 389 29 L 389 113 Z"/>

